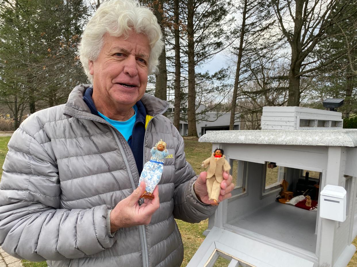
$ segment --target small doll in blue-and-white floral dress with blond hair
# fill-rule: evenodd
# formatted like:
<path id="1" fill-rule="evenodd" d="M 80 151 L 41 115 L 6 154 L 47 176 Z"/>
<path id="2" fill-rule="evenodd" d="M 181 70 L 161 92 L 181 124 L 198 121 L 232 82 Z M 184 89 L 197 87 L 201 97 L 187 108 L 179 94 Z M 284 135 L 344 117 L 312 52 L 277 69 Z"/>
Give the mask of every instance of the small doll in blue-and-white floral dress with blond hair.
<path id="1" fill-rule="evenodd" d="M 162 170 L 164 168 L 165 157 L 169 155 L 166 149 L 166 143 L 160 139 L 156 145 L 151 148 L 150 161 L 146 162 L 144 168 L 142 169 L 139 184 L 141 181 L 145 182 L 145 192 L 142 194 L 142 198 L 154 199 L 154 189 L 156 185 L 160 182 Z"/>

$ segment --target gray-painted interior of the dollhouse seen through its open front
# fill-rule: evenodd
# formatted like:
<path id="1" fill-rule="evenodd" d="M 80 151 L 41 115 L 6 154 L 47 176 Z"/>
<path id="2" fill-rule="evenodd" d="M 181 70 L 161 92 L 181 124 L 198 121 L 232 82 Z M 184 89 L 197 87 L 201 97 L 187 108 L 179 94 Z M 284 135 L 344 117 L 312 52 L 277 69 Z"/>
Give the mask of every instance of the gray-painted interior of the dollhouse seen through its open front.
<path id="1" fill-rule="evenodd" d="M 231 211 L 227 213 L 228 227 L 246 234 L 254 232 L 315 253 L 317 209 L 313 206 L 305 208 L 305 197 L 298 198 L 302 202 L 300 207 L 289 202 L 293 197 L 310 196 L 316 201 L 314 204 L 318 203 L 322 173 L 276 166 L 270 162 L 261 164 L 230 159 L 230 163 L 238 188 L 235 197 L 228 200 L 227 209 Z M 286 192 L 290 193 L 285 204 L 278 201 L 284 199 L 281 197 L 283 180 L 288 183 Z"/>

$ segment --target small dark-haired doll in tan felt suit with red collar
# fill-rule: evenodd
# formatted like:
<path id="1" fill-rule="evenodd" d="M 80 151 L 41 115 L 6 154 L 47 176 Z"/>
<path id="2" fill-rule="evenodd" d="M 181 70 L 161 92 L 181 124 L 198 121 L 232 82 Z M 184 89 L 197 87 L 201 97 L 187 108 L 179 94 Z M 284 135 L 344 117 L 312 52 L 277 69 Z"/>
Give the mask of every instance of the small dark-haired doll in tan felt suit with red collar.
<path id="1" fill-rule="evenodd" d="M 221 191 L 221 182 L 223 181 L 223 171 L 229 171 L 231 169 L 230 164 L 226 161 L 226 157 L 223 155 L 224 151 L 221 148 L 217 148 L 212 153 L 211 157 L 202 162 L 201 166 L 207 168 L 207 193 L 208 198 L 213 200 L 212 205 L 218 205 L 217 200 Z"/>

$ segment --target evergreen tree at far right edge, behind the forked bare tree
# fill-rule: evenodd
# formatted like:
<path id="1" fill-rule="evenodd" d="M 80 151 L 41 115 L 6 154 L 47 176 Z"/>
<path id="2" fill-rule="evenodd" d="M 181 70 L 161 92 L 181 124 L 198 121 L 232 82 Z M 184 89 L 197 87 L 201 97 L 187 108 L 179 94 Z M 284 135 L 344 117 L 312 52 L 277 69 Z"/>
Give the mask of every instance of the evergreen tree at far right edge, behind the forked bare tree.
<path id="1" fill-rule="evenodd" d="M 346 4 L 341 0 L 336 7 Z M 323 40 L 315 51 L 314 56 L 320 59 L 320 64 L 336 55 L 331 64 L 318 69 L 315 75 L 320 84 L 318 90 L 322 99 L 344 98 L 345 103 L 340 110 L 344 117 L 357 112 L 357 6 L 346 10 L 346 20 L 342 20 L 327 31 L 328 37 Z"/>

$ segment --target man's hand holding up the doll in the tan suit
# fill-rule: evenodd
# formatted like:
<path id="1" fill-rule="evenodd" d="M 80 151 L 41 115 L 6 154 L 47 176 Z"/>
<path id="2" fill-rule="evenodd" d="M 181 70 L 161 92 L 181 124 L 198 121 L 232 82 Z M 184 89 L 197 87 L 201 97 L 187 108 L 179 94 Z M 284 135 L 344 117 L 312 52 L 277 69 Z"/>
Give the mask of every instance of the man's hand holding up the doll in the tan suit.
<path id="1" fill-rule="evenodd" d="M 201 172 L 198 176 L 194 190 L 197 198 L 205 204 L 214 204 L 213 200 L 208 199 L 207 186 L 206 186 L 207 172 Z M 221 182 L 221 192 L 218 197 L 217 203 L 220 203 L 226 198 L 232 196 L 231 191 L 234 189 L 234 184 L 232 184 L 232 176 L 228 172 L 223 172 L 223 181 Z"/>

